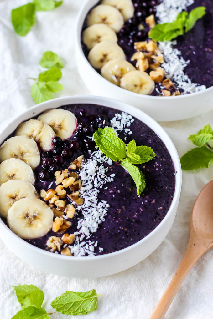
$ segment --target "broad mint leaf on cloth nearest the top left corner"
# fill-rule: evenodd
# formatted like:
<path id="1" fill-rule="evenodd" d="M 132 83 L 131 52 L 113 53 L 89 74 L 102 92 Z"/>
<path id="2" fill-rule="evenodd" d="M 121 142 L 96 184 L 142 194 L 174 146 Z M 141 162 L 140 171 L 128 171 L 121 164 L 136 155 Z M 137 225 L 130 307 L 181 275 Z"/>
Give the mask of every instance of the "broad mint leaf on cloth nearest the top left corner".
<path id="1" fill-rule="evenodd" d="M 17 34 L 25 36 L 36 21 L 33 3 L 22 5 L 11 11 L 11 22 Z"/>

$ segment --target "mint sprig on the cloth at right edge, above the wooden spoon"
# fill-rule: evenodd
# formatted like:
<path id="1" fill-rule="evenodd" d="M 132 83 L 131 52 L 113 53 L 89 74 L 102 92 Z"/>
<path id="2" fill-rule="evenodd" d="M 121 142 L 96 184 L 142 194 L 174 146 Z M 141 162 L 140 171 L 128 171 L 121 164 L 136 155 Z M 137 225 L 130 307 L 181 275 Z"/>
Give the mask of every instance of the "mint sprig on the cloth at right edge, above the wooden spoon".
<path id="1" fill-rule="evenodd" d="M 197 134 L 190 135 L 188 139 L 198 147 L 193 148 L 181 157 L 182 169 L 193 170 L 209 167 L 213 163 L 213 131 L 210 124 L 204 126 Z"/>

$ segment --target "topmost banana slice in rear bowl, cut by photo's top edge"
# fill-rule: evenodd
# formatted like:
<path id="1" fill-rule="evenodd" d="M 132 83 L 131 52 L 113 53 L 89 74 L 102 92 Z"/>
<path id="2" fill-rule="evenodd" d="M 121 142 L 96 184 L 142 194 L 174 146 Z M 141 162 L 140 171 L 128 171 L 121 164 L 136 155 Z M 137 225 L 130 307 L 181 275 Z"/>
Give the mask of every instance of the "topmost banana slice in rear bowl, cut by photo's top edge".
<path id="1" fill-rule="evenodd" d="M 102 0 L 101 4 L 111 5 L 118 9 L 123 16 L 124 21 L 133 17 L 134 6 L 131 0 Z"/>

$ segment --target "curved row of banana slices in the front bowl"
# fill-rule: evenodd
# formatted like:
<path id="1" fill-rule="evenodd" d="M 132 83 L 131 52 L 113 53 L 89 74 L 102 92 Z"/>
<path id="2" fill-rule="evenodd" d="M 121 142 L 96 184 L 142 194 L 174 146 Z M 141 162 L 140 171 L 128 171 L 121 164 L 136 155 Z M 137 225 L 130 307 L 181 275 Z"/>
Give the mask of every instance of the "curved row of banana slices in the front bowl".
<path id="1" fill-rule="evenodd" d="M 53 211 L 33 186 L 33 169 L 40 164 L 40 152 L 53 148 L 52 138 L 66 139 L 77 127 L 75 116 L 64 109 L 45 111 L 37 120 L 19 124 L 15 136 L 0 147 L 0 215 L 19 237 L 44 236 L 52 228 Z M 37 143 L 36 143 L 37 142 Z"/>

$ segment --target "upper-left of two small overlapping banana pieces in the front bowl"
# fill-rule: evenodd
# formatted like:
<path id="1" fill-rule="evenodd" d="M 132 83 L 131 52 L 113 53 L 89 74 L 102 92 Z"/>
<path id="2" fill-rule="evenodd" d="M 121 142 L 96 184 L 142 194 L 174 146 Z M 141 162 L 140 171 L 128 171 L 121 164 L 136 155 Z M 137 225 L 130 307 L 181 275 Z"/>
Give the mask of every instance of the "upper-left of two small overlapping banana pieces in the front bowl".
<path id="1" fill-rule="evenodd" d="M 41 121 L 30 119 L 29 121 L 19 124 L 15 131 L 15 135 L 26 135 L 29 138 L 35 137 L 41 132 L 44 124 Z"/>

